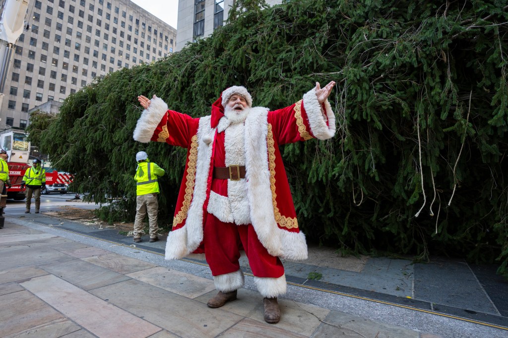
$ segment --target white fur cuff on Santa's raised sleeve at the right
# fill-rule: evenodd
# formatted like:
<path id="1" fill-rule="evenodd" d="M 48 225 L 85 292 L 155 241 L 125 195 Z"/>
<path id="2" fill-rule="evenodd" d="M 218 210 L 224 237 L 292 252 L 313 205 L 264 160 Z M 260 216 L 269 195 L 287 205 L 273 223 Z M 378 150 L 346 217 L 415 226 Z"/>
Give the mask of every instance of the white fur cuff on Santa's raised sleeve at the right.
<path id="1" fill-rule="evenodd" d="M 303 107 L 307 113 L 310 131 L 317 139 L 328 140 L 335 135 L 335 114 L 327 100 L 325 102 L 327 125 L 323 109 L 317 100 L 315 87 L 303 95 Z"/>

